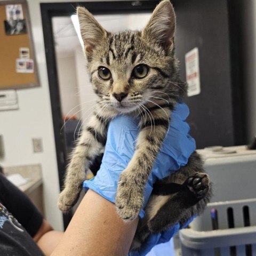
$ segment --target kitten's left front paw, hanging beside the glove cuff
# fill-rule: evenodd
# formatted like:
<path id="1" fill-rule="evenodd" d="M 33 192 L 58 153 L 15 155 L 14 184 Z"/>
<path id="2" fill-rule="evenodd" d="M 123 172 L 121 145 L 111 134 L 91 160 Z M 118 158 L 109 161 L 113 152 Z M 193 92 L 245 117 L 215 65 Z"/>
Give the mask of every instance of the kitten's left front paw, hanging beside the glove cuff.
<path id="1" fill-rule="evenodd" d="M 63 189 L 58 200 L 58 207 L 62 212 L 69 211 L 77 202 L 81 190 Z"/>

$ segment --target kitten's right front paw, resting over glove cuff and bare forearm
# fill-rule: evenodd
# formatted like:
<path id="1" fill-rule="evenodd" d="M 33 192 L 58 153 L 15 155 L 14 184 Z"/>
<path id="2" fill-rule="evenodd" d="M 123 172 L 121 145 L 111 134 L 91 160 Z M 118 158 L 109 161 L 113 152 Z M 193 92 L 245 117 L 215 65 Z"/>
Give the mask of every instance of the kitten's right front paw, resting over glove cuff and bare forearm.
<path id="1" fill-rule="evenodd" d="M 143 189 L 134 183 L 129 177 L 129 172 L 123 172 L 120 176 L 116 193 L 116 209 L 119 216 L 126 222 L 138 217 L 143 205 Z"/>

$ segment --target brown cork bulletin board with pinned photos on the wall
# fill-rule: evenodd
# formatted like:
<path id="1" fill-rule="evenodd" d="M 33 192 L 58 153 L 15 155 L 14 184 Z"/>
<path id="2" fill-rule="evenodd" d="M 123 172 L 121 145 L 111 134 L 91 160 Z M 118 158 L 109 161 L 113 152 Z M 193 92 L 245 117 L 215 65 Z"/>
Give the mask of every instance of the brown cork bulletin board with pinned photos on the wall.
<path id="1" fill-rule="evenodd" d="M 0 90 L 39 86 L 26 0 L 0 1 Z"/>

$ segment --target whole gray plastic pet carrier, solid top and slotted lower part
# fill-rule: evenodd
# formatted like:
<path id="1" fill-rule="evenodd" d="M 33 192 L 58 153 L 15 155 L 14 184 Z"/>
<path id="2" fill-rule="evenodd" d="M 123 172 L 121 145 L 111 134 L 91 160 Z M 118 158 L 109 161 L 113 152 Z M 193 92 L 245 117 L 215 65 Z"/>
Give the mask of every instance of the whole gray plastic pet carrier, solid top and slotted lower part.
<path id="1" fill-rule="evenodd" d="M 179 233 L 182 256 L 256 256 L 256 150 L 212 147 L 198 153 L 214 191 L 205 212 Z"/>

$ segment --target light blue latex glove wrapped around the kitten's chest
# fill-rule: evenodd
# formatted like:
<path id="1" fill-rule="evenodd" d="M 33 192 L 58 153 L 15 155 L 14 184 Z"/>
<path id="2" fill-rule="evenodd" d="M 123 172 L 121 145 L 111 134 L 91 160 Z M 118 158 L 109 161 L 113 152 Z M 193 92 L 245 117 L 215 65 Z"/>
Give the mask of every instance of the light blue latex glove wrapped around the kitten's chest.
<path id="1" fill-rule="evenodd" d="M 171 115 L 169 132 L 145 188 L 143 207 L 147 204 L 153 183 L 186 165 L 189 156 L 196 148 L 195 140 L 188 134 L 190 128 L 185 122 L 188 114 L 187 105 L 179 103 Z M 84 181 L 85 190 L 92 189 L 115 203 L 119 175 L 130 162 L 135 150 L 139 133 L 138 123 L 136 118 L 129 116 L 119 116 L 110 122 L 100 170 L 93 179 Z M 144 215 L 145 212 L 141 210 L 139 216 L 143 218 Z"/>

